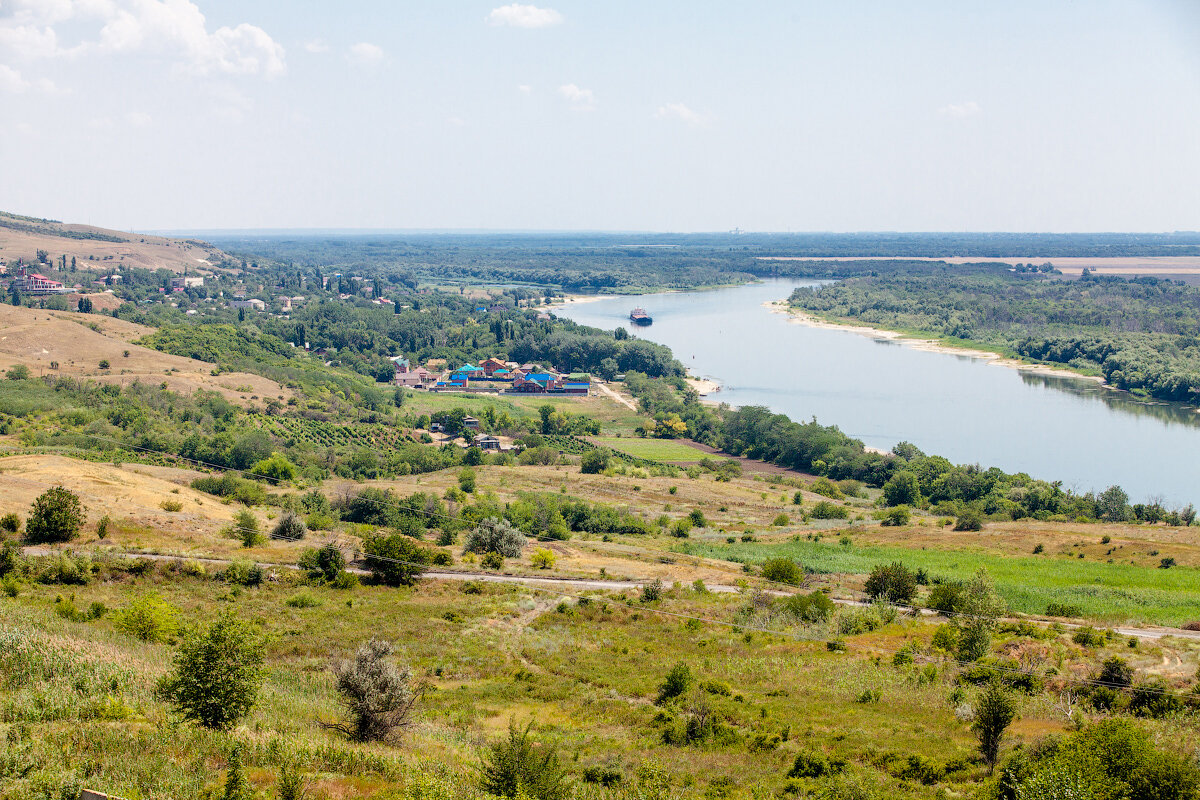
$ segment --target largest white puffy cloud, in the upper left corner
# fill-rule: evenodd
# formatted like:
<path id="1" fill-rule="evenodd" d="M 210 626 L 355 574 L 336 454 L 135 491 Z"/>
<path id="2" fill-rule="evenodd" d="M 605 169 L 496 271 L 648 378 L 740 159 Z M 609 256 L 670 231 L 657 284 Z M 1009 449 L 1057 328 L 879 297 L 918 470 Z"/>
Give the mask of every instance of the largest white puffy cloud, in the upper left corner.
<path id="1" fill-rule="evenodd" d="M 26 58 L 145 54 L 192 74 L 276 77 L 287 71 L 283 47 L 262 28 L 242 23 L 209 31 L 191 0 L 11 0 L 0 19 L 0 50 Z M 80 32 L 62 47 L 54 28 Z"/>

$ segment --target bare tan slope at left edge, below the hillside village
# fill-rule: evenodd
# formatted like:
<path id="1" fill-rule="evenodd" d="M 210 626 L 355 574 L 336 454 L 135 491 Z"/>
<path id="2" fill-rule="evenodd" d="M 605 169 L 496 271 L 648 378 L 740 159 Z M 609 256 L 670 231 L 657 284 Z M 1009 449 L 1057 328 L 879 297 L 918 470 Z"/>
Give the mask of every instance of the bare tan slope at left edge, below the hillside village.
<path id="1" fill-rule="evenodd" d="M 214 375 L 211 363 L 131 344 L 152 331 L 100 314 L 0 305 L 0 368 L 23 363 L 35 377 L 71 375 L 118 384 L 166 381 L 176 392 L 218 391 L 247 407 L 260 405 L 271 397 L 292 396 L 290 390 L 262 375 L 245 372 Z M 107 369 L 100 366 L 102 361 L 108 362 Z"/>

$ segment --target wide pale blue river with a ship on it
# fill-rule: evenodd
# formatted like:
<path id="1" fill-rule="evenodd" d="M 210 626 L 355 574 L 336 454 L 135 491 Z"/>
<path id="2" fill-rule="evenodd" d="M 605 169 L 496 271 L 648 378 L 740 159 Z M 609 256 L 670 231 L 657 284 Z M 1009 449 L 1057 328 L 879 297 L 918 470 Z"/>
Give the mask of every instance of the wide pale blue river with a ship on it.
<path id="1" fill-rule="evenodd" d="M 1132 501 L 1200 506 L 1200 414 L 1151 405 L 1093 380 L 1034 374 L 958 353 L 812 327 L 773 313 L 799 285 L 778 279 L 726 289 L 570 302 L 560 317 L 668 345 L 731 405 L 766 405 L 836 425 L 871 447 L 911 441 L 955 463 L 1000 467 L 1078 492 L 1122 486 Z M 654 324 L 629 323 L 643 306 Z"/>

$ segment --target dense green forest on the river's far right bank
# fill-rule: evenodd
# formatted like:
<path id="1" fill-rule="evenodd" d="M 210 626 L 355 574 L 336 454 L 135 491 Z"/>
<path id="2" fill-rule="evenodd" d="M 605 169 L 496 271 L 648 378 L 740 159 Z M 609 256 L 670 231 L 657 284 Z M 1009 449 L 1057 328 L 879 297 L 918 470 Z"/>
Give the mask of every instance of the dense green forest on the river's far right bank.
<path id="1" fill-rule="evenodd" d="M 1102 374 L 1157 399 L 1200 402 L 1200 289 L 1174 281 L 938 267 L 802 288 L 791 303 Z"/>

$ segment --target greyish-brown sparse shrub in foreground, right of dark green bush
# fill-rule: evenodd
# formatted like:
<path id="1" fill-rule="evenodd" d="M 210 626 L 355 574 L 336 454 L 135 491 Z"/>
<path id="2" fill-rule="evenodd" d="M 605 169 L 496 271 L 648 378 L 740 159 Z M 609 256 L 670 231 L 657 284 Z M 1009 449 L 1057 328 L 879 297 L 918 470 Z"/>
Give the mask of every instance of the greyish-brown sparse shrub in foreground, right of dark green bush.
<path id="1" fill-rule="evenodd" d="M 348 722 L 323 723 L 355 741 L 385 741 L 409 724 L 413 708 L 424 690 L 414 685 L 410 669 L 390 658 L 392 645 L 371 639 L 352 661 L 334 664 L 337 693 Z"/>

